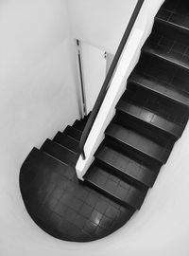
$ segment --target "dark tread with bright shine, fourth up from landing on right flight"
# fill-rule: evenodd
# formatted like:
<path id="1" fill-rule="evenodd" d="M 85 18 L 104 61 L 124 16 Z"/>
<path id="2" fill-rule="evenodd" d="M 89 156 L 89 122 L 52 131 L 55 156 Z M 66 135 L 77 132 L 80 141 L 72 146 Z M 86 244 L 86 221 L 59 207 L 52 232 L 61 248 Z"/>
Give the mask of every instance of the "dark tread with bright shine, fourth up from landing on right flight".
<path id="1" fill-rule="evenodd" d="M 183 128 L 180 125 L 164 119 L 163 117 L 160 117 L 143 107 L 120 100 L 116 106 L 116 109 L 135 119 L 140 119 L 146 123 L 149 123 L 150 125 L 155 126 L 164 132 L 173 135 L 174 137 L 179 138 L 181 136 Z"/>

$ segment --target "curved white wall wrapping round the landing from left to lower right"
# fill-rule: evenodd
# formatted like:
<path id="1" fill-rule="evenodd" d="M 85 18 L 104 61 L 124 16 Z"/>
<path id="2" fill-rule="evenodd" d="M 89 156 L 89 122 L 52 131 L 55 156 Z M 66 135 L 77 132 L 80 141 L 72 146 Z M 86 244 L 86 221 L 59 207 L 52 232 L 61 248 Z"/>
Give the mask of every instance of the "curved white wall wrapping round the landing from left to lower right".
<path id="1" fill-rule="evenodd" d="M 154 9 L 154 3 L 158 5 L 158 0 L 146 1 L 152 3 Z M 111 236 L 88 244 L 67 243 L 44 233 L 28 216 L 18 187 L 20 165 L 26 151 L 33 146 L 32 144 L 40 144 L 43 137 L 50 136 L 55 129 L 54 125 L 60 127 L 60 123 L 52 124 L 57 120 L 57 117 L 63 119 L 60 108 L 57 107 L 58 103 L 62 104 L 63 107 L 64 103 L 60 101 L 63 92 L 60 94 L 60 98 L 59 96 L 55 97 L 56 89 L 61 87 L 60 83 L 62 85 L 64 84 L 63 81 L 68 81 L 67 75 L 62 72 L 63 69 L 57 70 L 56 68 L 57 62 L 62 67 L 64 66 L 63 58 L 60 56 L 65 58 L 66 54 L 69 53 L 61 47 L 61 43 L 62 46 L 68 47 L 65 43 L 66 40 L 64 41 L 65 34 L 60 36 L 65 17 L 63 9 L 64 2 L 62 0 L 2 0 L 0 2 L 0 255 L 188 256 L 189 126 L 185 129 L 167 164 L 163 167 L 154 188 L 148 192 L 142 209 L 133 216 L 126 226 Z M 149 14 L 152 15 L 152 13 Z M 27 15 L 30 15 L 30 18 L 27 19 Z M 35 17 L 34 20 L 33 17 Z M 16 26 L 18 19 L 21 29 Z M 59 19 L 61 20 L 60 23 L 58 22 Z M 30 24 L 30 20 L 32 20 L 32 24 Z M 39 27 L 39 33 L 35 35 L 33 30 L 37 44 L 32 40 L 33 36 L 28 36 L 28 41 L 25 39 L 25 44 L 22 44 L 20 48 L 18 41 L 22 36 L 18 36 L 19 30 L 20 33 L 25 31 L 24 34 L 26 34 L 27 28 L 29 28 L 28 33 L 30 33 L 36 20 L 41 20 L 40 23 L 37 22 L 34 29 L 38 30 Z M 45 21 L 48 24 L 48 29 L 44 32 Z M 56 26 L 53 25 L 54 22 Z M 40 28 L 41 23 L 44 24 Z M 28 26 L 29 24 L 30 26 Z M 51 27 L 50 30 L 49 27 Z M 57 30 L 59 33 L 55 31 L 57 27 L 60 27 L 59 31 Z M 16 32 L 14 32 L 15 29 Z M 53 38 L 51 38 L 52 34 L 54 34 Z M 42 42 L 43 39 L 47 38 L 54 43 L 51 42 L 48 45 L 48 41 Z M 26 45 L 30 45 L 30 42 L 31 46 L 26 50 Z M 46 46 L 44 42 L 47 44 Z M 33 46 L 38 49 L 38 51 L 35 50 L 38 52 L 36 56 L 34 51 L 30 50 Z M 29 54 L 30 52 L 31 54 Z M 2 64 L 2 60 L 5 65 Z M 4 71 L 2 71 L 3 68 Z M 57 82 L 54 83 L 52 89 L 46 78 L 51 78 L 51 81 L 54 82 L 55 76 L 53 74 L 57 74 Z M 43 81 L 46 81 L 46 88 L 42 86 Z M 71 86 L 73 83 L 70 81 L 69 85 Z M 29 84 L 32 84 L 35 90 L 32 90 Z M 27 90 L 29 90 L 29 94 Z M 17 94 L 17 91 L 20 94 Z M 43 91 L 47 92 L 46 98 L 43 96 Z M 49 99 L 52 98 L 53 101 L 50 103 Z M 25 111 L 26 109 L 28 112 Z M 45 120 L 45 123 L 42 124 L 42 120 Z M 44 127 L 46 127 L 45 132 L 43 132 Z M 40 135 L 38 135 L 37 130 L 41 131 Z"/>

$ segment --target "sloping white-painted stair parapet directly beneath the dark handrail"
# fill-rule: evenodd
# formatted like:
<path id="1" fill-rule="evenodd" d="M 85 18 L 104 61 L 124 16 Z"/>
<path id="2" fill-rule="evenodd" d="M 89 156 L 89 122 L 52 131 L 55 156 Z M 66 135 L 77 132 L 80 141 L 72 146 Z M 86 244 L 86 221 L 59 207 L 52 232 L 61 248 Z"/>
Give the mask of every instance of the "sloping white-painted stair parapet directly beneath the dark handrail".
<path id="1" fill-rule="evenodd" d="M 163 0 L 146 0 L 138 16 L 135 26 L 129 36 L 128 44 L 125 46 L 117 68 L 114 72 L 109 90 L 103 101 L 98 115 L 94 121 L 93 128 L 84 145 L 86 158 L 80 155 L 77 161 L 77 177 L 83 180 L 88 168 L 94 161 L 94 153 L 104 138 L 104 132 L 115 114 L 115 105 L 126 89 L 129 74 L 138 62 L 140 50 L 151 32 L 153 19 L 160 8 Z"/>

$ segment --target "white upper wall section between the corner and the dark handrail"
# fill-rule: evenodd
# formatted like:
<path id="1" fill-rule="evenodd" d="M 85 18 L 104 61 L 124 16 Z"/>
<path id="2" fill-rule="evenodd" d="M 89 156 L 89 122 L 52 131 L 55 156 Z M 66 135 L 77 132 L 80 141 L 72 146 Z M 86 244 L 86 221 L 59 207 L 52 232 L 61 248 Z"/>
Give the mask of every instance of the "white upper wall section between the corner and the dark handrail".
<path id="1" fill-rule="evenodd" d="M 115 53 L 137 0 L 68 0 L 73 37 Z"/>

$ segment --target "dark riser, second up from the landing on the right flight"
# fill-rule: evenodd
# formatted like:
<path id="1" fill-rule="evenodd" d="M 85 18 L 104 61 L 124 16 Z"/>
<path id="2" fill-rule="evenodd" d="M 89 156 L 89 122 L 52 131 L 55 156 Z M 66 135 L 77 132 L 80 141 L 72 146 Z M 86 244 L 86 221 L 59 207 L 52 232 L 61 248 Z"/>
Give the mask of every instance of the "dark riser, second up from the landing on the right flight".
<path id="1" fill-rule="evenodd" d="M 121 170 L 114 168 L 112 165 L 109 165 L 108 163 L 102 161 L 101 159 L 99 159 L 97 157 L 95 158 L 95 162 L 97 163 L 97 165 L 105 168 L 105 170 L 110 171 L 111 174 L 116 174 L 117 176 L 121 177 L 123 180 L 125 180 L 129 184 L 131 184 L 139 189 L 146 189 L 146 188 L 150 188 L 153 186 L 153 184 L 149 185 L 149 184 L 145 184 L 145 183 L 142 183 L 142 182 L 136 180 L 134 177 L 130 176 L 129 174 L 125 174 Z M 154 180 L 154 182 L 155 182 L 155 180 Z"/>

